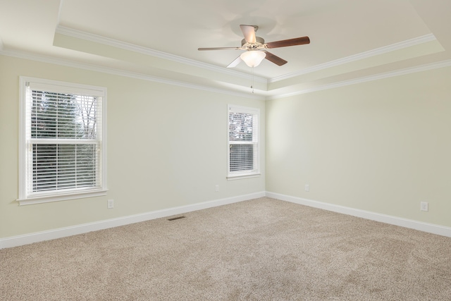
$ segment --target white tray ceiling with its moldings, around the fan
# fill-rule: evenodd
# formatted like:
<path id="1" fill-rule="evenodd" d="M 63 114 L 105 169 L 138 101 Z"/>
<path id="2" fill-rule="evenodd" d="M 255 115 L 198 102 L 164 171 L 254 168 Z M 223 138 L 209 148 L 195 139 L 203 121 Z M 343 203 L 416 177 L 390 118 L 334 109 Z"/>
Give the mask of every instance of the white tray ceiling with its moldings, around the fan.
<path id="1" fill-rule="evenodd" d="M 0 0 L 0 54 L 247 93 L 252 68 L 226 68 L 242 51 L 197 48 L 240 47 L 239 25 L 258 25 L 266 42 L 311 39 L 254 68 L 255 94 L 280 97 L 446 65 L 449 13 L 449 0 Z"/>

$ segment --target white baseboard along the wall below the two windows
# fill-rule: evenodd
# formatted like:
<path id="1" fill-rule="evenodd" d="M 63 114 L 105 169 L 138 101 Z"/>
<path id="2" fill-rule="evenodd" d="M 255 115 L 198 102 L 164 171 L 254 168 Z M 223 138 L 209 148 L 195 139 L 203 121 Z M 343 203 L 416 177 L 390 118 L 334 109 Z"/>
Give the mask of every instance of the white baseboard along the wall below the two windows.
<path id="1" fill-rule="evenodd" d="M 257 199 L 264 197 L 265 192 L 255 192 L 249 195 L 240 195 L 237 197 L 228 197 L 226 199 L 216 199 L 209 202 L 202 202 L 197 204 L 190 204 L 186 206 L 173 207 L 157 211 L 146 212 L 142 214 L 134 214 L 130 216 L 123 216 L 116 219 L 107 219 L 104 221 L 96 221 L 93 223 L 83 223 L 80 225 L 56 228 L 48 231 L 30 233 L 25 235 L 12 236 L 9 238 L 0 238 L 0 249 L 6 247 L 18 247 L 20 245 L 28 245 L 33 242 L 41 242 L 44 240 L 53 240 L 56 238 L 64 238 L 71 235 L 88 233 L 92 231 L 99 231 L 106 228 L 113 228 L 118 226 L 128 225 L 130 223 L 139 223 L 141 221 L 149 221 L 151 219 L 159 219 L 161 217 L 173 216 L 176 214 L 184 214 L 190 211 L 197 211 L 211 207 L 222 206 L 237 202 L 246 201 L 248 199 Z"/>

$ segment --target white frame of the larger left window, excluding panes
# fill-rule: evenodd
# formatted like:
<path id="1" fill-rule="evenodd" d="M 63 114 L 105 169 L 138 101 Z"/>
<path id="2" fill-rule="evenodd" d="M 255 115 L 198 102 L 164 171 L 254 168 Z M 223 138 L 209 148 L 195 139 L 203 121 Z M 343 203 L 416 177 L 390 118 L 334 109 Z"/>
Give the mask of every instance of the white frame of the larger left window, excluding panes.
<path id="1" fill-rule="evenodd" d="M 30 141 L 36 138 L 27 137 L 27 120 L 30 119 L 30 112 L 27 112 L 27 82 L 39 90 L 45 92 L 56 92 L 62 94 L 82 94 L 95 97 L 101 97 L 100 101 L 100 130 L 97 132 L 99 145 L 99 168 L 100 173 L 98 184 L 94 188 L 83 188 L 82 190 L 49 190 L 46 192 L 37 192 L 28 194 L 27 183 L 30 180 L 31 173 L 27 171 L 29 166 Z M 46 202 L 63 201 L 67 199 L 80 199 L 85 197 L 98 197 L 106 195 L 106 87 L 97 87 L 92 85 L 82 85 L 73 82 L 61 82 L 57 80 L 46 80 L 42 78 L 31 78 L 20 76 L 19 78 L 19 197 L 17 201 L 20 205 L 39 204 Z M 28 123 L 31 124 L 31 123 Z M 44 140 L 44 139 L 43 139 Z M 50 139 L 45 139 L 49 141 Z M 61 139 L 63 140 L 63 139 Z M 83 142 L 83 140 L 80 140 Z M 54 142 L 52 142 L 54 143 Z"/>

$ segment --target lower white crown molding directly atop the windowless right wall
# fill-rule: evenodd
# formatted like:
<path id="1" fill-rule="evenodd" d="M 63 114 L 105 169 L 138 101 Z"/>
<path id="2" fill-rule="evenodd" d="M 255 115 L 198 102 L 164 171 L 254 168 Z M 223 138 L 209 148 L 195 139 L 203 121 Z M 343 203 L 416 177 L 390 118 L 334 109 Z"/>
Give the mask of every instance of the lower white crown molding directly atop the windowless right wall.
<path id="1" fill-rule="evenodd" d="M 316 91 L 321 91 L 321 90 L 328 90 L 328 89 L 333 89 L 333 88 L 337 88 L 337 87 L 344 87 L 344 86 L 348 86 L 348 85 L 355 85 L 355 84 L 359 84 L 362 82 L 371 82 L 373 80 L 382 80 L 384 78 L 393 78 L 395 76 L 400 76 L 400 75 L 407 75 L 410 73 L 417 73 L 417 72 L 421 72 L 421 71 L 427 71 L 427 70 L 433 70 L 433 69 L 438 69 L 438 68 L 444 68 L 444 67 L 451 67 L 451 59 L 450 60 L 446 60 L 446 61 L 440 61 L 437 63 L 428 63 L 428 64 L 424 64 L 421 66 L 415 66 L 415 67 L 411 67 L 411 68 L 404 68 L 404 69 L 400 69 L 400 70 L 395 70 L 395 71 L 390 71 L 390 72 L 385 72 L 385 73 L 379 73 L 376 75 L 369 75 L 369 76 L 364 76 L 362 78 L 356 78 L 353 80 L 343 80 L 341 82 L 334 82 L 332 84 L 328 84 L 328 85 L 321 85 L 318 87 L 312 87 L 309 89 L 304 89 L 304 90 L 299 90 L 296 92 L 291 92 L 291 93 L 285 93 L 285 94 L 278 94 L 278 95 L 274 95 L 271 97 L 266 97 L 267 100 L 271 100 L 271 99 L 280 99 L 280 98 L 285 98 L 285 97 L 290 97 L 290 96 L 295 96 L 295 95 L 299 95 L 299 94 L 307 94 L 310 92 L 316 92 Z"/>

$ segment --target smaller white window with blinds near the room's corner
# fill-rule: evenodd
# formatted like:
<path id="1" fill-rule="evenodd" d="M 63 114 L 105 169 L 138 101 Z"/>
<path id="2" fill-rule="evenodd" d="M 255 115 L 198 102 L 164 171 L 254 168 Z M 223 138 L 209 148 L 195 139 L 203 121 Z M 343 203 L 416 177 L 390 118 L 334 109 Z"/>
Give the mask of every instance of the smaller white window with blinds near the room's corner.
<path id="1" fill-rule="evenodd" d="M 259 175 L 259 113 L 228 106 L 228 178 Z"/>

